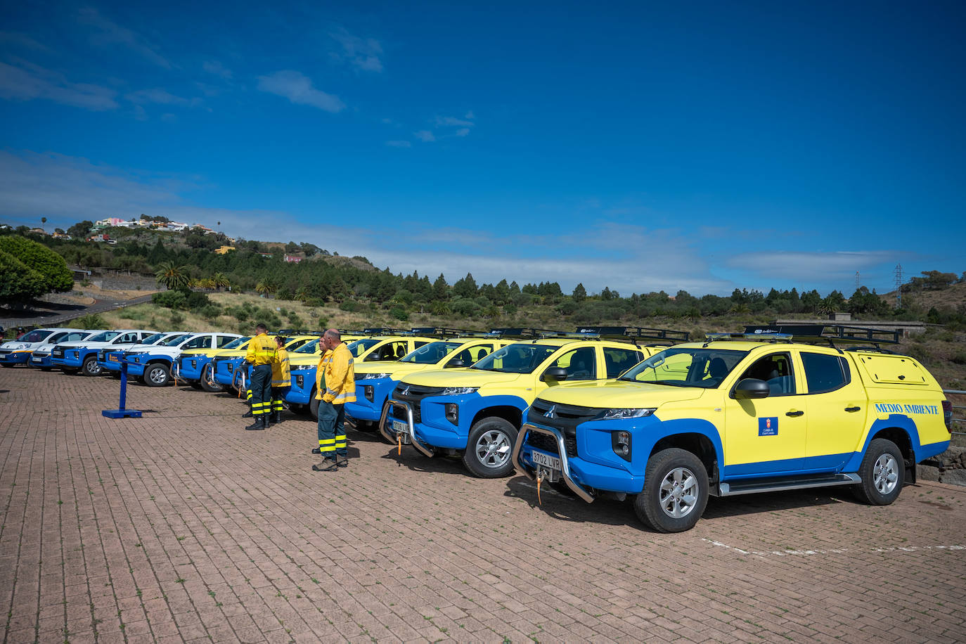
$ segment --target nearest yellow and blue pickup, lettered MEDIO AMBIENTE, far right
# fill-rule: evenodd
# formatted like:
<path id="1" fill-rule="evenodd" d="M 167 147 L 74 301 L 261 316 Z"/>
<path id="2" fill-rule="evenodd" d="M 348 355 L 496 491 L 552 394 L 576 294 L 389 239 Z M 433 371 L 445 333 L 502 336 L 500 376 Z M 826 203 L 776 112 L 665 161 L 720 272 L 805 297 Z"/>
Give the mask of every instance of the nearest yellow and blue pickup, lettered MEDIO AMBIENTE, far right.
<path id="1" fill-rule="evenodd" d="M 659 532 L 692 528 L 709 495 L 848 486 L 886 505 L 951 438 L 951 404 L 916 359 L 882 349 L 896 344 L 842 325 L 709 334 L 543 392 L 513 461 L 588 503 L 636 495 Z"/>

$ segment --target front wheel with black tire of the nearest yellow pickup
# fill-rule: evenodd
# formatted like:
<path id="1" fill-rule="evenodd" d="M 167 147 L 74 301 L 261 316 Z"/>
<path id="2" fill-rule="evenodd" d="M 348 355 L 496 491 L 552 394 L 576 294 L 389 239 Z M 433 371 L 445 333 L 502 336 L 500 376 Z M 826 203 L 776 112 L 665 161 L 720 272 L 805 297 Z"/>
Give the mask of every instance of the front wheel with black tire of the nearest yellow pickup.
<path id="1" fill-rule="evenodd" d="M 641 521 L 658 532 L 684 532 L 695 527 L 707 504 L 708 472 L 694 454 L 672 447 L 648 460 L 644 490 L 634 501 Z"/>

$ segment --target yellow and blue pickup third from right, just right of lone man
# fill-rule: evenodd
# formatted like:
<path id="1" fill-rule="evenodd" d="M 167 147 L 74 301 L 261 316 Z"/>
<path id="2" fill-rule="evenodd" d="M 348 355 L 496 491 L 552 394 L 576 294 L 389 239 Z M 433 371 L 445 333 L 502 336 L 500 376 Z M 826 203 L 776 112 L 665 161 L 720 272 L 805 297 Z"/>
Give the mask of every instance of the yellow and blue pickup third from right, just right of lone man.
<path id="1" fill-rule="evenodd" d="M 413 331 L 442 339 L 412 350 L 399 360 L 355 365 L 355 403 L 346 403 L 346 415 L 355 421 L 355 429 L 375 428 L 389 394 L 402 378 L 423 371 L 469 367 L 510 342 L 466 329 L 432 327 Z"/>

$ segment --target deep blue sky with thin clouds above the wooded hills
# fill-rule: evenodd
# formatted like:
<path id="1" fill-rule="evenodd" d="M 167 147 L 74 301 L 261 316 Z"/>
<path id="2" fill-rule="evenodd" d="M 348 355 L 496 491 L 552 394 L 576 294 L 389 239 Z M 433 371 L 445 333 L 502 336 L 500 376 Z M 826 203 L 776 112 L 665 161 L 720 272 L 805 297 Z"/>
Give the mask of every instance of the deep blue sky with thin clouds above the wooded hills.
<path id="1" fill-rule="evenodd" d="M 966 270 L 962 3 L 4 3 L 0 220 L 451 282 Z"/>

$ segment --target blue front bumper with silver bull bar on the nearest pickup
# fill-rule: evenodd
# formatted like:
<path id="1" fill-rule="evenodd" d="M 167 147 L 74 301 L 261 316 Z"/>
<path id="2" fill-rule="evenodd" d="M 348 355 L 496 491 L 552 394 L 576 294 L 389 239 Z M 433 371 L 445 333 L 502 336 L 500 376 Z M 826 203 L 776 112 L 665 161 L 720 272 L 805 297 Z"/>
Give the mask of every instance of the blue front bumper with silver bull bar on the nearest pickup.
<path id="1" fill-rule="evenodd" d="M 527 444 L 526 437 L 531 432 L 546 434 L 554 439 L 557 445 L 557 454 L 537 450 Z M 578 434 L 580 434 L 580 430 L 578 430 Z M 578 444 L 581 444 L 580 435 L 578 435 Z M 636 476 L 626 469 L 585 461 L 579 456 L 568 456 L 564 436 L 558 429 L 524 423 L 520 433 L 517 434 L 517 442 L 514 443 L 511 458 L 514 466 L 530 479 L 535 479 L 537 476 L 547 473 L 547 467 L 534 462 L 534 452 L 559 459 L 560 479 L 587 503 L 593 502 L 596 490 L 637 494 L 643 489 L 643 477 Z"/>

